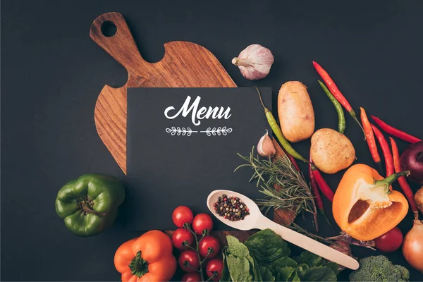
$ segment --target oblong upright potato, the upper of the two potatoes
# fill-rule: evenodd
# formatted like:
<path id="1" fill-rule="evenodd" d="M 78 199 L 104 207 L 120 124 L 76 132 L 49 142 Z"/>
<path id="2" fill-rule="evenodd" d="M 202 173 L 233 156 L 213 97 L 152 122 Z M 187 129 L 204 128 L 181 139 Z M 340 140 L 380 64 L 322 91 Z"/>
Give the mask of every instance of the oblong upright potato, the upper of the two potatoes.
<path id="1" fill-rule="evenodd" d="M 299 81 L 284 83 L 278 94 L 281 130 L 290 142 L 299 142 L 314 132 L 314 111 L 307 87 Z"/>

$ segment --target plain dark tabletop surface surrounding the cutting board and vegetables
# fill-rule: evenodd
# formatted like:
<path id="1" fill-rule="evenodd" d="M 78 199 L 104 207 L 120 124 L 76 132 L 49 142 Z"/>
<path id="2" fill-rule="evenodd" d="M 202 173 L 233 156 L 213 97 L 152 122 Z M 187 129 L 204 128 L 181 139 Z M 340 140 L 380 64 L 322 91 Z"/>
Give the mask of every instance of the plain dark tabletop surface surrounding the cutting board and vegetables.
<path id="1" fill-rule="evenodd" d="M 120 219 L 97 237 L 78 238 L 54 210 L 59 188 L 82 173 L 124 180 L 94 127 L 102 87 L 123 85 L 127 78 L 89 37 L 92 21 L 102 13 L 125 16 L 147 61 L 161 59 L 164 43 L 186 40 L 212 51 L 237 85 L 271 86 L 275 101 L 283 82 L 301 80 L 309 87 L 317 128 L 336 128 L 336 112 L 312 67 L 312 60 L 318 61 L 357 111 L 364 106 L 423 137 L 423 2 L 323 2 L 1 1 L 1 279 L 118 281 L 114 252 L 140 235 L 124 232 Z M 275 56 L 271 73 L 259 82 L 245 80 L 231 64 L 252 43 L 269 47 Z M 357 161 L 372 164 L 349 117 L 345 134 Z M 307 154 L 308 146 L 306 141 L 295 148 Z M 341 173 L 326 179 L 334 189 Z M 400 223 L 404 233 L 411 219 Z M 324 229 L 325 235 L 338 232 Z M 379 253 L 359 247 L 353 252 Z M 400 251 L 387 256 L 407 266 L 412 280 L 423 280 Z"/>

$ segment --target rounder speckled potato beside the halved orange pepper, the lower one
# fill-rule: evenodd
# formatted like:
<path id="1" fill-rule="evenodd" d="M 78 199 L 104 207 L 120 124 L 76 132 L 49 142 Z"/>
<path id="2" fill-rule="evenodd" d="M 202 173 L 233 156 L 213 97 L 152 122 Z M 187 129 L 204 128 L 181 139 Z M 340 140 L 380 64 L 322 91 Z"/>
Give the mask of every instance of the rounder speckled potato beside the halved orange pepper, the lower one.
<path id="1" fill-rule="evenodd" d="M 353 143 L 330 128 L 321 128 L 313 134 L 310 154 L 317 168 L 328 174 L 348 168 L 355 160 Z"/>

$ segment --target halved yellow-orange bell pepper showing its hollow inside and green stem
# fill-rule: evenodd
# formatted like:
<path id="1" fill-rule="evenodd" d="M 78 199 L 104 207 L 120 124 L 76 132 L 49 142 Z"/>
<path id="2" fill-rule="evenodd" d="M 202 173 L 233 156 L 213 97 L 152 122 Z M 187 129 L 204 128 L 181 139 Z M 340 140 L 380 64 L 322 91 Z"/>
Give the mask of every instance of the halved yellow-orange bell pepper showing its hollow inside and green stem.
<path id="1" fill-rule="evenodd" d="M 407 214 L 408 202 L 390 188 L 407 173 L 383 178 L 365 164 L 348 168 L 333 197 L 333 218 L 338 226 L 357 240 L 373 240 L 397 226 Z"/>

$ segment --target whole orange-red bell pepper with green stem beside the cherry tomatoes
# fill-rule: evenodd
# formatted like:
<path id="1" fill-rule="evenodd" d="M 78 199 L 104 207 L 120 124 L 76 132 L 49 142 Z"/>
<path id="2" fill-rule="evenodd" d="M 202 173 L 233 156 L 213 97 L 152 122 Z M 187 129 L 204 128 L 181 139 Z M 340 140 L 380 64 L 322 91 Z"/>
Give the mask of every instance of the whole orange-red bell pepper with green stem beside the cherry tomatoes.
<path id="1" fill-rule="evenodd" d="M 171 238 L 152 230 L 118 247 L 114 264 L 122 281 L 170 281 L 176 271 L 172 250 Z"/>

